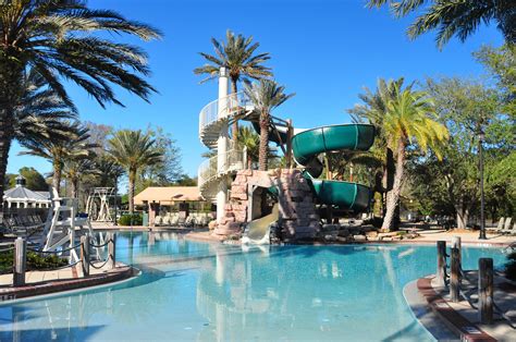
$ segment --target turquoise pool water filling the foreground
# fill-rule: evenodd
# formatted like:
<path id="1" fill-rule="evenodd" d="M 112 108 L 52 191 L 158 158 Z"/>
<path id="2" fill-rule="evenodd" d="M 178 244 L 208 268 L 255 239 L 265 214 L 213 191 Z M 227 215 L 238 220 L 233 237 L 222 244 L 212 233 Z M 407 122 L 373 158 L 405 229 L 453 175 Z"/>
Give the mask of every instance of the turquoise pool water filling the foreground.
<path id="1" fill-rule="evenodd" d="M 496 248 L 464 248 L 504 262 Z M 0 341 L 410 340 L 432 337 L 403 286 L 435 268 L 432 246 L 277 246 L 121 233 L 125 283 L 0 306 Z"/>

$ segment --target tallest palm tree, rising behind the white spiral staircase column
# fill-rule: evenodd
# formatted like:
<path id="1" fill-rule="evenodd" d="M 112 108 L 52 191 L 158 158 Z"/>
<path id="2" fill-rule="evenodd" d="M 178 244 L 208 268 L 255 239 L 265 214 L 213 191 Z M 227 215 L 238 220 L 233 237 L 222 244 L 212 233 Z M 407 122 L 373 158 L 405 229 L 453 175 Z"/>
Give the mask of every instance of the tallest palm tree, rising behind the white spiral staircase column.
<path id="1" fill-rule="evenodd" d="M 244 37 L 236 35 L 228 29 L 225 33 L 226 41 L 219 41 L 211 38 L 211 44 L 216 51 L 216 56 L 199 52 L 209 63 L 200 68 L 194 69 L 195 74 L 208 75 L 200 83 L 213 80 L 219 75 L 220 68 L 225 66 L 230 73 L 232 93 L 238 90 L 239 81 L 261 80 L 271 77 L 270 68 L 263 66 L 262 63 L 270 59 L 268 52 L 254 54 L 260 46 L 259 42 L 253 44 L 253 36 Z M 237 137 L 238 124 L 236 120 L 233 122 L 232 135 L 233 141 Z"/>

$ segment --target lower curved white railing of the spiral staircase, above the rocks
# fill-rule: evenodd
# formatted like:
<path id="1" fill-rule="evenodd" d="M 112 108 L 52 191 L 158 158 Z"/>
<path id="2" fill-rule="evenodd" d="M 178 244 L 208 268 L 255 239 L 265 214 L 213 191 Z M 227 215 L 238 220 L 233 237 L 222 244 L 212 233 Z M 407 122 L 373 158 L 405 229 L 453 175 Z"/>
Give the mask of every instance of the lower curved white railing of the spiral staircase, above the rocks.
<path id="1" fill-rule="evenodd" d="M 198 186 L 201 192 L 206 192 L 205 186 L 218 178 L 243 170 L 247 164 L 247 151 L 246 148 L 232 148 L 221 156 L 223 158 L 224 166 L 219 168 L 219 156 L 213 156 L 205 160 L 198 169 Z M 202 194 L 205 197 L 206 194 Z"/>

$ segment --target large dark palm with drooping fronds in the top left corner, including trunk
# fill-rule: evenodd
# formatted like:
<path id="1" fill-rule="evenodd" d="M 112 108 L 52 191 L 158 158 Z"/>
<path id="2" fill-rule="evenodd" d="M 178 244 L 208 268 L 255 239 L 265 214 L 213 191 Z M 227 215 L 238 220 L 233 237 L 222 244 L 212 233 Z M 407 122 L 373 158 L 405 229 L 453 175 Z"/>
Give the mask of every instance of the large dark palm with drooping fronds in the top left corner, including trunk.
<path id="1" fill-rule="evenodd" d="M 140 76 L 149 74 L 146 53 L 135 46 L 110 40 L 109 34 L 115 34 L 116 39 L 119 34 L 145 40 L 160 37 L 150 26 L 113 11 L 90 10 L 82 0 L 1 1 L 0 184 L 4 183 L 15 108 L 28 69 L 34 69 L 69 106 L 73 103 L 64 80 L 77 84 L 102 107 L 108 102 L 122 105 L 112 84 L 148 101 L 155 89 Z"/>

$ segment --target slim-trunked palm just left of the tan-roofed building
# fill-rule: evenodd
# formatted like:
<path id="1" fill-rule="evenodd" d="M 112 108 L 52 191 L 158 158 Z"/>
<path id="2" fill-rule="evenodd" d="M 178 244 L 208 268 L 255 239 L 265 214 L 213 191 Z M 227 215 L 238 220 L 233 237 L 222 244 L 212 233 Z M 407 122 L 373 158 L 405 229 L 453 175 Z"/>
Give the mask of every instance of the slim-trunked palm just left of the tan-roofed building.
<path id="1" fill-rule="evenodd" d="M 163 162 L 163 152 L 157 148 L 156 141 L 142 131 L 118 131 L 109 141 L 109 154 L 128 175 L 128 209 L 134 212 L 134 186 L 138 171 L 146 166 Z"/>

